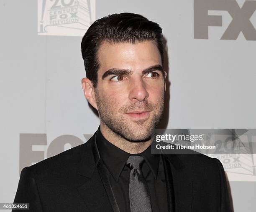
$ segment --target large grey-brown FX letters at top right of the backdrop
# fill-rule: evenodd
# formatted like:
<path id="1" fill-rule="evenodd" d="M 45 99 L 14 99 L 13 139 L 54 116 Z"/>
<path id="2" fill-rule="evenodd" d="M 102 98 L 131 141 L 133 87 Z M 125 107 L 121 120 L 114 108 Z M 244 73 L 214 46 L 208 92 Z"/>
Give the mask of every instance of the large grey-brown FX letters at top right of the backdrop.
<path id="1" fill-rule="evenodd" d="M 220 38 L 236 40 L 243 32 L 246 40 L 256 40 L 256 30 L 250 21 L 256 10 L 255 0 L 246 0 L 240 7 L 236 0 L 194 0 L 194 38 L 208 39 L 208 26 L 222 26 L 222 16 L 208 15 L 208 10 L 225 10 L 232 17 Z"/>

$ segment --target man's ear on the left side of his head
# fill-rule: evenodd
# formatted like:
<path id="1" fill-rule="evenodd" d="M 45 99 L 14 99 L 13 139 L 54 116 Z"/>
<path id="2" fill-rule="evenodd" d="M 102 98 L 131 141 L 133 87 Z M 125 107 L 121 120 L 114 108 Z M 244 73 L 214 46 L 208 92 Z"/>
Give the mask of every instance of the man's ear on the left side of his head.
<path id="1" fill-rule="evenodd" d="M 84 91 L 84 96 L 87 99 L 87 101 L 92 105 L 92 107 L 98 110 L 92 81 L 88 78 L 82 78 L 82 88 Z"/>

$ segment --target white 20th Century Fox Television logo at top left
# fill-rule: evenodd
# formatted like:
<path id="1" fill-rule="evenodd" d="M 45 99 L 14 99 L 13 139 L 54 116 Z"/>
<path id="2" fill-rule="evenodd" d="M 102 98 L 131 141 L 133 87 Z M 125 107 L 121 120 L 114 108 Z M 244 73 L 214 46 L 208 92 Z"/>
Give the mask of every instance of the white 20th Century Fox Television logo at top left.
<path id="1" fill-rule="evenodd" d="M 95 21 L 95 0 L 38 0 L 38 35 L 83 36 Z"/>

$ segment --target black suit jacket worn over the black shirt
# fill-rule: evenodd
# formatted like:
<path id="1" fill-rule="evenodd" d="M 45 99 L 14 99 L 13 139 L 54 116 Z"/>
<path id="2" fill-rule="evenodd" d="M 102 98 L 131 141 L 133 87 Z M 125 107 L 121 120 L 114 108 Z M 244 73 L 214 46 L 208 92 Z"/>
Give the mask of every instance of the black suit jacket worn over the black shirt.
<path id="1" fill-rule="evenodd" d="M 85 144 L 25 167 L 14 203 L 29 203 L 33 212 L 117 211 L 98 169 L 102 162 L 95 155 L 95 134 Z M 218 159 L 202 154 L 163 154 L 163 158 L 170 211 L 230 212 Z"/>

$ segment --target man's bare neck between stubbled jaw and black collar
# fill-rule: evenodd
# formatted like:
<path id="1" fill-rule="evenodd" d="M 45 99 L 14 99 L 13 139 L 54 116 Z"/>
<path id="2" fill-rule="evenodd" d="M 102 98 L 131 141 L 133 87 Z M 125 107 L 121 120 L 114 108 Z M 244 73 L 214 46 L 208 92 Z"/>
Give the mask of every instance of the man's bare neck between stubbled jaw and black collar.
<path id="1" fill-rule="evenodd" d="M 143 142 L 128 141 L 125 138 L 113 132 L 113 130 L 110 130 L 110 128 L 104 123 L 100 123 L 100 132 L 105 137 L 105 139 L 107 139 L 110 143 L 130 154 L 137 154 L 143 152 L 153 142 L 153 138 Z"/>

